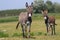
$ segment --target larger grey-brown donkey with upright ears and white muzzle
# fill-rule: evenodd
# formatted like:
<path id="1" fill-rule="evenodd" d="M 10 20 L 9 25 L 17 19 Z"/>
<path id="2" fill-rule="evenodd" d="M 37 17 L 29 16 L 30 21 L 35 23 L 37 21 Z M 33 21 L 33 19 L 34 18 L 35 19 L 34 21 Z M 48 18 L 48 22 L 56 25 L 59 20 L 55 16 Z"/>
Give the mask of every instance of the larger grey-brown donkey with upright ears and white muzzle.
<path id="1" fill-rule="evenodd" d="M 19 24 L 21 24 L 23 37 L 30 37 L 33 3 L 31 3 L 31 5 L 28 5 L 28 3 L 26 2 L 25 6 L 27 11 L 20 13 L 16 29 L 18 28 Z"/>

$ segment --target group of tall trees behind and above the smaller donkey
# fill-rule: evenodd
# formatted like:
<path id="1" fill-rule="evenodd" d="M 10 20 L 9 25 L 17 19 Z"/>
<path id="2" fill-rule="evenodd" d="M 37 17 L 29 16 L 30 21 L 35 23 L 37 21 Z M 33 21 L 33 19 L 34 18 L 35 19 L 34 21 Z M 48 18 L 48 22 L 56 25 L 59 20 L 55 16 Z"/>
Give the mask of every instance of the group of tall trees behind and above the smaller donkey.
<path id="1" fill-rule="evenodd" d="M 50 13 L 60 12 L 60 4 L 53 3 L 50 0 L 34 0 L 34 12 L 39 13 L 43 9 L 48 9 Z"/>

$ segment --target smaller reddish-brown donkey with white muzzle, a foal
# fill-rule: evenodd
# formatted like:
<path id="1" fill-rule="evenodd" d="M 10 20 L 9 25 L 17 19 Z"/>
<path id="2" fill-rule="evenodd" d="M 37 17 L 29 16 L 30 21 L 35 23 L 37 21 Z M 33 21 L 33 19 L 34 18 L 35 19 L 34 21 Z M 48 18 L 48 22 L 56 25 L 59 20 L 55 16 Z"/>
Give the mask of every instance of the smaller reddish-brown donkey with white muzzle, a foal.
<path id="1" fill-rule="evenodd" d="M 51 34 L 56 34 L 55 32 L 55 17 L 54 16 L 48 16 L 47 13 L 48 13 L 48 10 L 45 9 L 43 11 L 41 11 L 43 16 L 44 16 L 44 19 L 45 19 L 45 24 L 46 24 L 46 28 L 47 28 L 47 33 L 49 32 L 50 28 L 51 28 Z M 54 33 L 53 33 L 54 32 Z"/>

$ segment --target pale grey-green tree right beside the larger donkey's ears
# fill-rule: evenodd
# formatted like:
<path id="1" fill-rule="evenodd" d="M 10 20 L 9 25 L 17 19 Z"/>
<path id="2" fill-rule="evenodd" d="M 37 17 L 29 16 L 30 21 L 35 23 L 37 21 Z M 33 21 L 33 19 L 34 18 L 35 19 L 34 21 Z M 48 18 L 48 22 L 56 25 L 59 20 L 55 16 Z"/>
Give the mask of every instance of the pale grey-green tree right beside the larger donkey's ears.
<path id="1" fill-rule="evenodd" d="M 39 13 L 44 7 L 44 1 L 43 0 L 35 0 L 34 1 L 34 11 L 35 13 Z"/>

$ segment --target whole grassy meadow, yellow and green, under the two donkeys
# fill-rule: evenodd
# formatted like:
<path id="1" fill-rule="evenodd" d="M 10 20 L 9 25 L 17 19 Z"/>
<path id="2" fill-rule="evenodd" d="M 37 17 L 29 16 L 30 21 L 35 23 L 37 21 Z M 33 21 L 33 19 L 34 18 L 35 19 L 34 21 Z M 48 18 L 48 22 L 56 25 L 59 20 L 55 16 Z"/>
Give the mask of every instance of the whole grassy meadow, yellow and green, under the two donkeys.
<path id="1" fill-rule="evenodd" d="M 51 16 L 51 14 L 49 14 Z M 23 38 L 21 26 L 16 30 L 18 16 L 0 18 L 1 40 L 60 40 L 60 14 L 52 13 L 56 18 L 56 35 L 46 35 L 46 27 L 42 14 L 33 14 L 31 26 L 31 38 Z"/>

